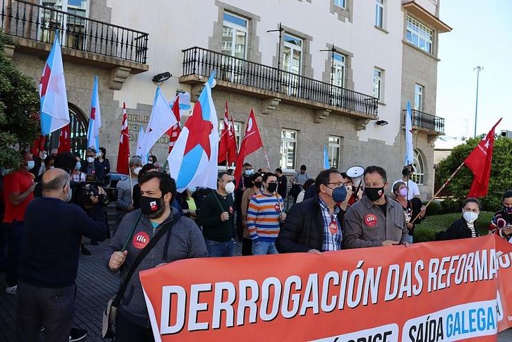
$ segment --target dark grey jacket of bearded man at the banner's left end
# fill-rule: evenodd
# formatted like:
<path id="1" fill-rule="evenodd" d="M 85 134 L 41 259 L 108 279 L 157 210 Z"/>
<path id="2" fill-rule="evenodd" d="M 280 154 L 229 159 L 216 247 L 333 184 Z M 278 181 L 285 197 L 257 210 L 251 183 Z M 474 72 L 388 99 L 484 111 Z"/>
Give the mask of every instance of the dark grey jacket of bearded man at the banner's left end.
<path id="1" fill-rule="evenodd" d="M 134 226 L 140 210 L 134 210 L 125 215 L 122 219 L 116 234 L 113 236 L 108 250 L 105 252 L 105 261 L 107 269 L 110 272 L 109 260 L 110 256 L 115 251 L 120 251 L 125 241 L 129 239 L 127 245 L 127 258 L 125 263 L 120 267 L 120 280 L 122 281 L 127 275 L 131 265 L 137 258 L 138 253 L 142 251 L 142 246 L 138 244 L 138 249 L 134 246 L 133 236 L 139 232 L 146 233 L 149 239 L 154 237 L 156 231 L 160 226 L 172 219 L 179 221 L 172 226 L 170 233 L 166 233 L 161 240 L 158 241 L 156 246 L 146 255 L 146 258 L 140 262 L 133 276 L 128 283 L 125 295 L 122 297 L 119 312 L 125 316 L 129 321 L 137 325 L 149 327 L 149 316 L 147 314 L 144 294 L 140 279 L 138 277 L 139 271 L 145 269 L 152 269 L 158 264 L 163 262 L 172 262 L 174 260 L 188 259 L 188 258 L 203 258 L 208 256 L 208 251 L 204 242 L 203 234 L 198 226 L 189 219 L 179 215 L 178 210 L 172 208 L 172 215 L 165 220 L 160 226 L 153 228 L 151 222 L 147 217 L 142 215 L 138 223 L 134 235 L 128 236 L 131 233 L 131 228 Z"/>

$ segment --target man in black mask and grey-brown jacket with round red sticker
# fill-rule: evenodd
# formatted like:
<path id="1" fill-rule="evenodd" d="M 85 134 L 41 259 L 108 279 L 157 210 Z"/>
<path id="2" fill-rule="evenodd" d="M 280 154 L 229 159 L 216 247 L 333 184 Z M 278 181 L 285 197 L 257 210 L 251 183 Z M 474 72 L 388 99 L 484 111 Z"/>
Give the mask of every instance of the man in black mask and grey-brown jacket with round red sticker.
<path id="1" fill-rule="evenodd" d="M 408 246 L 403 208 L 385 195 L 388 185 L 385 170 L 368 166 L 363 179 L 365 196 L 348 208 L 343 220 L 345 248 Z"/>

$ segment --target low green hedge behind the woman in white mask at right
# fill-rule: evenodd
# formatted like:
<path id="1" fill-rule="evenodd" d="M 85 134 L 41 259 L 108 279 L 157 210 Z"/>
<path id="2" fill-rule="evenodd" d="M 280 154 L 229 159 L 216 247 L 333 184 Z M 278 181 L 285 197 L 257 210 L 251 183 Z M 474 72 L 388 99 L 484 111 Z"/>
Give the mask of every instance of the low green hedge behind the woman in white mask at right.
<path id="1" fill-rule="evenodd" d="M 430 204 L 431 206 L 432 204 Z M 429 207 L 430 207 L 429 206 Z M 491 223 L 494 213 L 490 211 L 481 211 L 475 226 L 481 235 L 488 232 L 488 226 Z M 450 213 L 443 215 L 427 216 L 421 224 L 414 229 L 414 242 L 434 241 L 437 232 L 446 231 L 446 228 L 461 217 L 459 213 Z"/>

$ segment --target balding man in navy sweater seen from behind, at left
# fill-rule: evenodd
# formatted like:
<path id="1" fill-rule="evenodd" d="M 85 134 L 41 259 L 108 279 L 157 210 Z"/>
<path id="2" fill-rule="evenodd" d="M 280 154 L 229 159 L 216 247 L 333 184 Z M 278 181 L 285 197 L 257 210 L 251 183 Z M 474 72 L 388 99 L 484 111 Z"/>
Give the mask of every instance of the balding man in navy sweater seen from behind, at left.
<path id="1" fill-rule="evenodd" d="M 75 278 L 82 235 L 102 241 L 107 236 L 102 208 L 93 219 L 71 199 L 69 174 L 51 169 L 43 174 L 42 195 L 28 205 L 24 217 L 17 289 L 17 341 L 37 341 L 44 325 L 46 341 L 69 341 L 75 312 Z"/>

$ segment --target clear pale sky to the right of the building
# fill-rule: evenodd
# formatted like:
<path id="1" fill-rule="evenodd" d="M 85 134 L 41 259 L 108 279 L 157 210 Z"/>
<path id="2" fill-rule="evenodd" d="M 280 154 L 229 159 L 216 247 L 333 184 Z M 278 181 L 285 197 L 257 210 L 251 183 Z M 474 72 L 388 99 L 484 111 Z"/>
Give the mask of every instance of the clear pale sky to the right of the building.
<path id="1" fill-rule="evenodd" d="M 496 132 L 512 130 L 512 1 L 441 0 L 439 19 L 452 28 L 439 35 L 437 113 L 445 119 L 446 141 L 473 137 L 477 71 L 479 75 L 477 135 L 503 118 Z M 453 139 L 457 138 L 457 140 Z"/>

